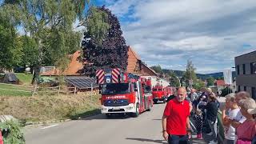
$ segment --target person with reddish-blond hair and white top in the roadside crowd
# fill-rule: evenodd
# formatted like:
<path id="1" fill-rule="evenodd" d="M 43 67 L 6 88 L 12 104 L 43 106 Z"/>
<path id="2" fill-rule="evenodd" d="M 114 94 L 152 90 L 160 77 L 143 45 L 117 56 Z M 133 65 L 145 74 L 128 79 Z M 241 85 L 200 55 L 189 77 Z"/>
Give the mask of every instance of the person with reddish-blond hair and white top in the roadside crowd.
<path id="1" fill-rule="evenodd" d="M 238 104 L 235 102 L 235 94 L 227 94 L 226 106 L 222 110 L 222 123 L 225 128 L 225 144 L 234 144 L 235 128 L 231 126 L 230 120 L 233 120 L 238 115 L 239 110 Z"/>

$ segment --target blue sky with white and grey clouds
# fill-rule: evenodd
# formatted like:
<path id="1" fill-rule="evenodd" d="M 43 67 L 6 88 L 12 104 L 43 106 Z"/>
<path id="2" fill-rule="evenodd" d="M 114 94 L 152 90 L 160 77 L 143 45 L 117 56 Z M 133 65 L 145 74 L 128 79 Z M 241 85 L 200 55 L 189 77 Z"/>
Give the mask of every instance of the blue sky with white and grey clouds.
<path id="1" fill-rule="evenodd" d="M 97 0 L 122 24 L 126 44 L 149 66 L 198 73 L 223 71 L 256 50 L 255 0 Z"/>

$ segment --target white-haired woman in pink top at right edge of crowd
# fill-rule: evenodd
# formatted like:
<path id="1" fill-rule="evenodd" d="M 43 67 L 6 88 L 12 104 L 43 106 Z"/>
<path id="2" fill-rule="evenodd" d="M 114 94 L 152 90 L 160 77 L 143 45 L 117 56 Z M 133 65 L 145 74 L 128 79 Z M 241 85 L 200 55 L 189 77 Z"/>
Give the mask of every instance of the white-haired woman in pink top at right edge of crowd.
<path id="1" fill-rule="evenodd" d="M 237 144 L 251 143 L 254 135 L 256 134 L 255 121 L 253 114 L 248 113 L 248 110 L 256 108 L 256 103 L 254 99 L 247 98 L 239 101 L 240 111 L 246 121 L 242 122 L 237 128 L 238 141 Z"/>

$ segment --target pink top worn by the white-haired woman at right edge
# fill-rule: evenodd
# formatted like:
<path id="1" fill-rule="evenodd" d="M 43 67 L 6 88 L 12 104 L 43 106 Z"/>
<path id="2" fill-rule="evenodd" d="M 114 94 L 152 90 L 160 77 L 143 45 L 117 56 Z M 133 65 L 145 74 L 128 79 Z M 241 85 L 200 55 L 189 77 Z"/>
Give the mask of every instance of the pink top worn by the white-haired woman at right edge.
<path id="1" fill-rule="evenodd" d="M 246 120 L 242 122 L 237 128 L 238 139 L 252 140 L 256 134 L 256 122 L 253 120 Z"/>

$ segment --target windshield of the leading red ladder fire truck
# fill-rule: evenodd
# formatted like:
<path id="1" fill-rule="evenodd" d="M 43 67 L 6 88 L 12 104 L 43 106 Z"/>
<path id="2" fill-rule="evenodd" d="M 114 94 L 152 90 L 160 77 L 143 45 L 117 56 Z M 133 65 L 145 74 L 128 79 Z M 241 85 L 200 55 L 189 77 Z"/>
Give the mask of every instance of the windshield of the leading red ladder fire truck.
<path id="1" fill-rule="evenodd" d="M 130 93 L 128 83 L 110 83 L 102 86 L 102 94 L 127 94 Z"/>

